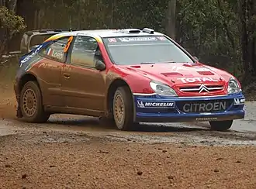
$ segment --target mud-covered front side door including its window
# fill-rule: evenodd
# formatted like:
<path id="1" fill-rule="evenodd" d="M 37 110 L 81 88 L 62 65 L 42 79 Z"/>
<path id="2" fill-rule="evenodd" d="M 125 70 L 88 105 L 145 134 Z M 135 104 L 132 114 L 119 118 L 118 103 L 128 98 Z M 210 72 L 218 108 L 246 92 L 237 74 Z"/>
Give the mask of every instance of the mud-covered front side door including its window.
<path id="1" fill-rule="evenodd" d="M 65 105 L 98 115 L 104 109 L 106 88 L 106 72 L 95 69 L 95 60 L 102 60 L 99 44 L 92 37 L 76 36 L 67 57 L 62 75 Z"/>

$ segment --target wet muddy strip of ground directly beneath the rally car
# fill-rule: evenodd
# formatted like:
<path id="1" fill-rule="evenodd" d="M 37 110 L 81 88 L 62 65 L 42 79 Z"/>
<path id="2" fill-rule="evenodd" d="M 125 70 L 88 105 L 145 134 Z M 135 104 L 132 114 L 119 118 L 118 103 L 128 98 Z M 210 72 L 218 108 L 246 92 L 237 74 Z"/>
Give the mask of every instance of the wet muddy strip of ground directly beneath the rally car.
<path id="1" fill-rule="evenodd" d="M 246 125 L 243 127 L 243 125 Z M 251 128 L 250 128 L 251 126 Z M 214 132 L 206 122 L 200 123 L 141 123 L 135 131 L 118 131 L 112 125 L 98 119 L 80 115 L 52 115 L 46 124 L 28 124 L 16 119 L 0 121 L 0 134 L 10 135 L 24 132 L 82 133 L 119 141 L 140 143 L 185 143 L 188 145 L 256 145 L 253 121 L 247 119 L 234 122 L 228 132 Z M 250 131 L 251 130 L 251 131 Z"/>

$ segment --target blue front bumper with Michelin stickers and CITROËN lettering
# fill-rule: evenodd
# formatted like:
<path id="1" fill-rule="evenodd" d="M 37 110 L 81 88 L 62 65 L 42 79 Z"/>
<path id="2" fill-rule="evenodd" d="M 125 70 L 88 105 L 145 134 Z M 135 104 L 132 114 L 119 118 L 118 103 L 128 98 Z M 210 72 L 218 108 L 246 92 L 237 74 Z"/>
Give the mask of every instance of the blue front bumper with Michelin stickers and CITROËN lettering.
<path id="1" fill-rule="evenodd" d="M 244 119 L 244 95 L 161 97 L 133 94 L 135 122 L 208 122 Z"/>

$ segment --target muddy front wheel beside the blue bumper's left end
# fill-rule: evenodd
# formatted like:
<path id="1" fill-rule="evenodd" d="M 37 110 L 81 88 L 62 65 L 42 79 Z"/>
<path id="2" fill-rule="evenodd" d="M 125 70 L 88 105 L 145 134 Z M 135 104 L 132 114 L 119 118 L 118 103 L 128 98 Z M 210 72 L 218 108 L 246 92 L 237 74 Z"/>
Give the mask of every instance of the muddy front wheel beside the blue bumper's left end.
<path id="1" fill-rule="evenodd" d="M 119 130 L 133 129 L 133 97 L 128 87 L 117 88 L 113 98 L 113 117 Z"/>

